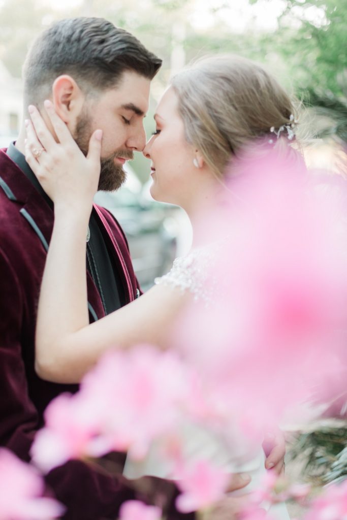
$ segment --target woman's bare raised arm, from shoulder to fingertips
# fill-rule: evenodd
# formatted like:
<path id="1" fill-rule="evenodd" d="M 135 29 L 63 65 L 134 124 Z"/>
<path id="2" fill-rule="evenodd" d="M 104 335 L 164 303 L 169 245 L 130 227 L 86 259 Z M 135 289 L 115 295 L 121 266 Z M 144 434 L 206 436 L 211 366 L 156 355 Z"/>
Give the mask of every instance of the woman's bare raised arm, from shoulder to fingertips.
<path id="1" fill-rule="evenodd" d="M 36 371 L 43 379 L 76 383 L 109 347 L 136 343 L 165 347 L 165 336 L 188 295 L 158 285 L 133 303 L 89 325 L 86 230 L 100 170 L 100 140 L 84 157 L 50 105 L 59 142 L 38 111 L 27 125 L 25 157 L 54 200 L 55 223 L 42 280 L 36 326 Z M 39 139 L 39 140 L 38 140 Z M 39 158 L 32 151 L 44 148 Z"/>

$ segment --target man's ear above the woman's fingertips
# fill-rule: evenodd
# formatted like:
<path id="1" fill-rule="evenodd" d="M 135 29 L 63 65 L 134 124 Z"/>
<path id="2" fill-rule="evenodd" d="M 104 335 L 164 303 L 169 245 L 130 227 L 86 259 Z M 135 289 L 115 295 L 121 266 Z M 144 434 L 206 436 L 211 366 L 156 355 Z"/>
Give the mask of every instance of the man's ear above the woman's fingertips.
<path id="1" fill-rule="evenodd" d="M 53 105 L 60 118 L 69 125 L 81 113 L 84 95 L 73 77 L 58 76 L 52 86 Z"/>

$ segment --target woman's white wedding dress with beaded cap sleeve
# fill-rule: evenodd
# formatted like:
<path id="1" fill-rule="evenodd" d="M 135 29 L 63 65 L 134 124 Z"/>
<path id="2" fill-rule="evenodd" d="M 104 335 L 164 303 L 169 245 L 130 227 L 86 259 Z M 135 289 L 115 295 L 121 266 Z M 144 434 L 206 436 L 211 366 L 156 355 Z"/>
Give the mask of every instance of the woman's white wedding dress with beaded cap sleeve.
<path id="1" fill-rule="evenodd" d="M 195 300 L 207 306 L 213 305 L 213 285 L 206 283 L 206 273 L 218 251 L 219 246 L 214 244 L 214 246 L 192 250 L 190 254 L 176 258 L 170 272 L 156 278 L 155 283 L 189 291 L 194 295 Z M 252 477 L 248 486 L 233 491 L 232 495 L 243 495 L 259 486 L 266 473 L 265 453 L 261 447 L 262 439 L 259 439 L 258 448 L 254 448 L 254 443 L 247 443 L 244 437 L 237 446 L 235 444 L 227 446 L 221 436 L 194 423 L 183 425 L 183 436 L 186 439 L 184 446 L 186 459 L 194 461 L 207 458 L 230 473 L 247 473 Z M 134 461 L 127 458 L 124 476 L 129 479 L 144 475 L 174 478 L 172 468 L 161 458 L 160 453 L 160 447 L 153 444 L 144 460 Z M 290 520 L 284 503 L 276 505 L 263 503 L 262 507 L 271 513 L 274 520 Z"/>

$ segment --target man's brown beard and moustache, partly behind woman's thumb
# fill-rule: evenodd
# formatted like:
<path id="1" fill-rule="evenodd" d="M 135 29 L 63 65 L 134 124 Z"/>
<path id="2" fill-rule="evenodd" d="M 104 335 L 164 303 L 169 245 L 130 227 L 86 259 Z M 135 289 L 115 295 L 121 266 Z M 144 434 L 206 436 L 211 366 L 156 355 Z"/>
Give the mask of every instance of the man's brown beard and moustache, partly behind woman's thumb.
<path id="1" fill-rule="evenodd" d="M 87 111 L 83 110 L 77 120 L 73 138 L 85 156 L 88 153 L 89 139 L 92 133 L 91 118 Z M 126 173 L 121 164 L 114 162 L 116 157 L 133 159 L 133 152 L 130 150 L 117 150 L 117 152 L 112 153 L 110 157 L 100 159 L 101 170 L 98 190 L 115 191 L 124 184 Z"/>

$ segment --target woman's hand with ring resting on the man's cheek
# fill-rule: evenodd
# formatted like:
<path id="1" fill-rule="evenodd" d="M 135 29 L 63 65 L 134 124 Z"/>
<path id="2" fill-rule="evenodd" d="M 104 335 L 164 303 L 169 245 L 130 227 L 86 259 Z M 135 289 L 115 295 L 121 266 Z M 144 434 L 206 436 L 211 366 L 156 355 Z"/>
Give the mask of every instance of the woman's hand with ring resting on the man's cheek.
<path id="1" fill-rule="evenodd" d="M 53 103 L 46 100 L 44 106 L 59 142 L 49 132 L 38 110 L 30 106 L 31 121 L 25 122 L 25 159 L 54 201 L 55 211 L 61 206 L 74 211 L 81 207 L 90 213 L 100 176 L 102 131 L 96 130 L 92 134 L 85 157 L 67 125 L 55 112 Z"/>

